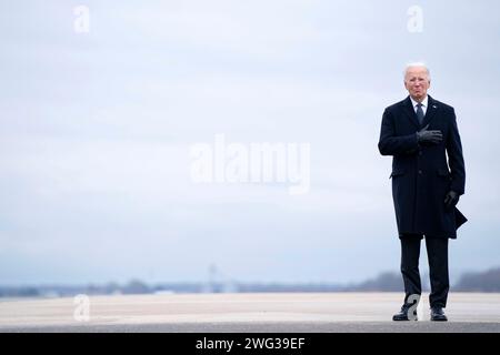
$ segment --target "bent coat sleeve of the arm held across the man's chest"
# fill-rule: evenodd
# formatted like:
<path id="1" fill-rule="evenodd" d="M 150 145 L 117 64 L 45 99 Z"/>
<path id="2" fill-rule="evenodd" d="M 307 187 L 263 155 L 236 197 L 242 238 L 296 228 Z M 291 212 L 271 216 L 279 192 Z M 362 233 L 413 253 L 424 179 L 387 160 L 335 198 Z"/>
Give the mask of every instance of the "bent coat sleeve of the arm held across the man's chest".
<path id="1" fill-rule="evenodd" d="M 382 155 L 404 155 L 414 154 L 420 146 L 417 133 L 408 135 L 396 135 L 394 116 L 386 109 L 382 115 L 382 126 L 380 129 L 379 151 Z"/>

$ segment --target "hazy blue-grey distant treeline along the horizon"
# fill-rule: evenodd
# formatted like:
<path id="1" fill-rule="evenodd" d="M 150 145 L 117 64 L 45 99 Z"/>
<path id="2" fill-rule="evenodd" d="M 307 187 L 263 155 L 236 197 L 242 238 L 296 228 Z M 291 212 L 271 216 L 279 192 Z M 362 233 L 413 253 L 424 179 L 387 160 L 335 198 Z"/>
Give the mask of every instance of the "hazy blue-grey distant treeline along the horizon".
<path id="1" fill-rule="evenodd" d="M 424 291 L 426 282 L 422 277 Z M 0 286 L 0 297 L 60 297 L 109 294 L 156 294 L 156 293 L 223 293 L 223 292 L 401 292 L 402 278 L 399 273 L 382 273 L 378 277 L 359 284 L 342 285 L 328 283 L 164 283 L 148 285 L 133 280 L 126 285 L 108 283 L 103 285 L 43 285 Z M 452 291 L 500 292 L 500 267 L 486 272 L 464 273 Z"/>

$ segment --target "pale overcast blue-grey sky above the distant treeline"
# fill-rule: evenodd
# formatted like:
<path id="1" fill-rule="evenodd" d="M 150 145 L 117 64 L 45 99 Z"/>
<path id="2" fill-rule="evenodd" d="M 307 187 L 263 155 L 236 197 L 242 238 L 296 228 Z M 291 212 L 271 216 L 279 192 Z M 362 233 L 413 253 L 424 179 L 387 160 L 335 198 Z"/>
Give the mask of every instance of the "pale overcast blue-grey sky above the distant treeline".
<path id="1" fill-rule="evenodd" d="M 398 271 L 377 143 L 409 61 L 428 63 L 462 135 L 470 222 L 452 277 L 499 266 L 499 13 L 497 1 L 1 1 L 0 284 L 204 281 L 212 263 L 243 282 Z M 189 150 L 218 133 L 309 143 L 310 192 L 194 184 Z"/>

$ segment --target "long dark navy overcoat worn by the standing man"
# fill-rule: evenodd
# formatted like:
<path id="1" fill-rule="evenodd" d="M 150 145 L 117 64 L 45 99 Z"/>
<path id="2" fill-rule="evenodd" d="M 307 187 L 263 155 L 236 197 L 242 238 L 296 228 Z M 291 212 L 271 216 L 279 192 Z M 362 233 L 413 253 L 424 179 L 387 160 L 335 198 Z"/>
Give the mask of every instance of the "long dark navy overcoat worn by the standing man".
<path id="1" fill-rule="evenodd" d="M 422 124 L 410 97 L 386 109 L 379 150 L 393 156 L 390 178 L 399 235 L 456 239 L 467 219 L 457 207 L 446 209 L 444 196 L 450 190 L 464 193 L 462 145 L 453 108 L 428 98 Z M 416 133 L 428 124 L 428 130 L 442 132 L 440 144 L 419 144 Z"/>

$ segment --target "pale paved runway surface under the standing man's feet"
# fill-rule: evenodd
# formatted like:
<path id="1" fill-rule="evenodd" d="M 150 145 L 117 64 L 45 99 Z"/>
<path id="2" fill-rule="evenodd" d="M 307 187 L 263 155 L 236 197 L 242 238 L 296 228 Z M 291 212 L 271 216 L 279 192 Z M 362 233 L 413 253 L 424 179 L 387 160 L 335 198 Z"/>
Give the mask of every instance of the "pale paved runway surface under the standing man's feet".
<path id="1" fill-rule="evenodd" d="M 496 332 L 500 294 L 452 293 L 450 322 L 392 322 L 400 293 L 260 293 L 90 296 L 89 320 L 73 298 L 2 300 L 0 332 Z"/>

